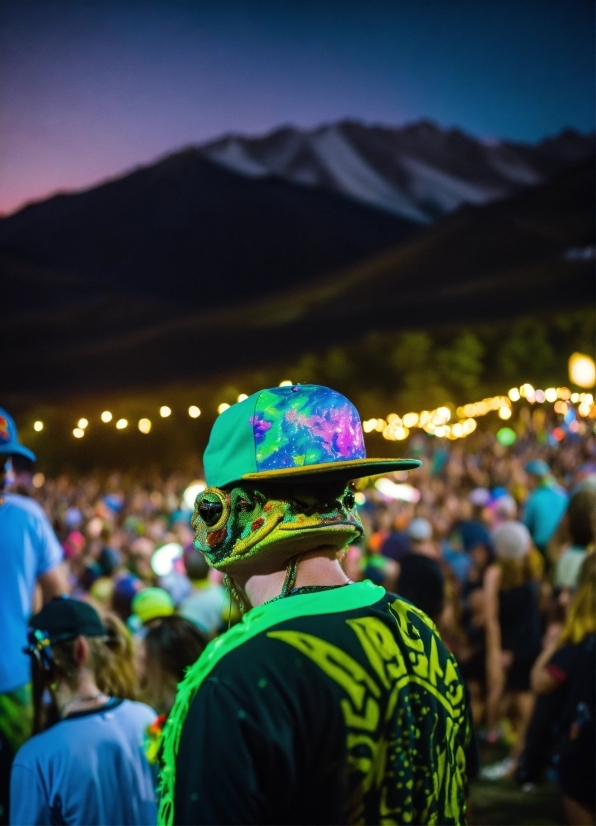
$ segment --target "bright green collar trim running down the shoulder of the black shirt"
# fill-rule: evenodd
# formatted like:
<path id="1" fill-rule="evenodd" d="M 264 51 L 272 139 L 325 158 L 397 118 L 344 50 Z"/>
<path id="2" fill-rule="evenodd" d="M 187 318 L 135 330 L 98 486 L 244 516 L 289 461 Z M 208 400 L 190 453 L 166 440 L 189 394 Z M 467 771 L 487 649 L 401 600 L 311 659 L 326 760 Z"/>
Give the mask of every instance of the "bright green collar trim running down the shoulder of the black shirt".
<path id="1" fill-rule="evenodd" d="M 230 651 L 280 622 L 297 617 L 340 614 L 356 608 L 366 608 L 382 599 L 385 593 L 384 588 L 366 580 L 345 588 L 334 588 L 314 594 L 295 594 L 287 599 L 253 608 L 242 618 L 242 622 L 209 643 L 178 686 L 176 701 L 164 728 L 158 823 L 162 826 L 172 826 L 174 822 L 176 755 L 182 727 L 201 683 L 219 661 Z"/>

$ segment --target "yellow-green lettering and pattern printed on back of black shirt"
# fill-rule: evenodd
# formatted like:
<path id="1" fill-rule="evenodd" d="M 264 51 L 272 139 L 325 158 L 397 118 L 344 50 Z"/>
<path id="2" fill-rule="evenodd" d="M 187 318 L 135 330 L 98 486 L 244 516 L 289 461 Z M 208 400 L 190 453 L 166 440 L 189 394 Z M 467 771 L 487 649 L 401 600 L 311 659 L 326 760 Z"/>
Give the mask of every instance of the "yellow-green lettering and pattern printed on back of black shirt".
<path id="1" fill-rule="evenodd" d="M 346 620 L 368 668 L 311 634 L 268 636 L 307 656 L 345 694 L 349 823 L 465 823 L 469 723 L 453 658 L 422 612 L 403 600 L 390 611 L 393 632 L 374 616 Z"/>

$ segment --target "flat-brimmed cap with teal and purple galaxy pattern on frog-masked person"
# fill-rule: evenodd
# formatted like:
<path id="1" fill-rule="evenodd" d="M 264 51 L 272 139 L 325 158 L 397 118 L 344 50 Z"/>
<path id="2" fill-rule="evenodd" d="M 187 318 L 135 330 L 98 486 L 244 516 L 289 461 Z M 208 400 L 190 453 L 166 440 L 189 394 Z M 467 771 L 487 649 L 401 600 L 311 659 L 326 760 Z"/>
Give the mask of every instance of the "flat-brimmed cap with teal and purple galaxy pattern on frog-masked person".
<path id="1" fill-rule="evenodd" d="M 367 459 L 360 416 L 328 387 L 296 384 L 253 393 L 216 420 L 203 457 L 207 484 L 241 479 L 326 482 L 393 470 L 416 459 Z"/>

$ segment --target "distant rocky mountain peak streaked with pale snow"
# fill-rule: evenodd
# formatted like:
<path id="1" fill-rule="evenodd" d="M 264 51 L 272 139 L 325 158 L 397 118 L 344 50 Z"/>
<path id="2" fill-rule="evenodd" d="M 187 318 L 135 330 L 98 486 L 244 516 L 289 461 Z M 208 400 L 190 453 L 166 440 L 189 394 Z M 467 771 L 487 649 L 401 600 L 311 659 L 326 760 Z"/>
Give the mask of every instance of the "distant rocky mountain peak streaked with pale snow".
<path id="1" fill-rule="evenodd" d="M 593 147 L 593 136 L 572 130 L 530 146 L 479 141 L 430 121 L 390 128 L 346 120 L 264 137 L 228 135 L 199 151 L 242 175 L 275 175 L 430 223 L 462 204 L 486 204 L 544 183 Z"/>

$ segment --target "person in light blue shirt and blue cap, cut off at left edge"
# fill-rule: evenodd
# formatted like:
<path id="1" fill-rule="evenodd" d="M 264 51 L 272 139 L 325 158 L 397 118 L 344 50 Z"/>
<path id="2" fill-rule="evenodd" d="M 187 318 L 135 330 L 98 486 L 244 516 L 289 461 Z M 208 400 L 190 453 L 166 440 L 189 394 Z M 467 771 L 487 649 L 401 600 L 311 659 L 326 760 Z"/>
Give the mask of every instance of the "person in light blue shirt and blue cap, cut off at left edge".
<path id="1" fill-rule="evenodd" d="M 31 678 L 23 648 L 35 587 L 44 602 L 68 590 L 62 548 L 47 516 L 32 499 L 5 492 L 13 456 L 35 461 L 20 444 L 11 416 L 0 409 L 0 824 L 8 822 L 12 758 L 31 736 Z"/>

